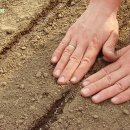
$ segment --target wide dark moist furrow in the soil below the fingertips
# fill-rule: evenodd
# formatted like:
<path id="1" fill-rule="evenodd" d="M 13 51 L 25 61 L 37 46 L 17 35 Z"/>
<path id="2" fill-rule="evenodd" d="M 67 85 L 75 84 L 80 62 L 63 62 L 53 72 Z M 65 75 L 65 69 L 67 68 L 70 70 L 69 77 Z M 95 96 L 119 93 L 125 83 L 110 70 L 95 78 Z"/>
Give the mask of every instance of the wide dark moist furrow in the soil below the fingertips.
<path id="1" fill-rule="evenodd" d="M 60 99 L 52 104 L 47 114 L 40 118 L 30 130 L 48 130 L 49 125 L 57 121 L 57 116 L 63 113 L 66 103 L 72 101 L 74 97 L 72 90 L 65 92 Z"/>

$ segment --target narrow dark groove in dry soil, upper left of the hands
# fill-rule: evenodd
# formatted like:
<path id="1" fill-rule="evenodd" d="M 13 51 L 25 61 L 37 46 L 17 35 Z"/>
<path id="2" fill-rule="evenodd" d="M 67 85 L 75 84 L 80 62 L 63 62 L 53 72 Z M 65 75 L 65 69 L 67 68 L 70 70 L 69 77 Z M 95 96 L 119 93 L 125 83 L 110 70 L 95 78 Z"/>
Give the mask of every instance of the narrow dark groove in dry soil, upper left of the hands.
<path id="1" fill-rule="evenodd" d="M 36 17 L 29 23 L 28 27 L 24 29 L 23 31 L 17 33 L 13 39 L 9 43 L 7 43 L 7 46 L 2 48 L 0 50 L 0 54 L 5 54 L 12 48 L 13 45 L 15 45 L 21 37 L 28 34 L 30 31 L 32 31 L 33 27 L 38 23 L 38 20 L 43 17 L 46 18 L 46 16 L 49 14 L 50 11 L 52 11 L 57 5 L 59 4 L 59 0 L 50 0 L 50 3 L 46 8 L 42 10 L 41 13 L 37 14 Z"/>

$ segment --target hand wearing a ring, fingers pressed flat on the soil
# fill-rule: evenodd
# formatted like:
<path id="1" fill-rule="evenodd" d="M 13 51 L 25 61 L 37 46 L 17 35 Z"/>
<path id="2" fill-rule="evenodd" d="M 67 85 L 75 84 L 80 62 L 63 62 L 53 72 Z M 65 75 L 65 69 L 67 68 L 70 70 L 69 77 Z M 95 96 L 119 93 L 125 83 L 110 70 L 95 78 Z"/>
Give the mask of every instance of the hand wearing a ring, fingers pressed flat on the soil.
<path id="1" fill-rule="evenodd" d="M 79 82 L 92 67 L 103 46 L 105 57 L 114 57 L 118 39 L 116 13 L 105 2 L 90 2 L 53 54 L 51 61 L 57 63 L 53 75 L 59 78 L 59 84 Z"/>

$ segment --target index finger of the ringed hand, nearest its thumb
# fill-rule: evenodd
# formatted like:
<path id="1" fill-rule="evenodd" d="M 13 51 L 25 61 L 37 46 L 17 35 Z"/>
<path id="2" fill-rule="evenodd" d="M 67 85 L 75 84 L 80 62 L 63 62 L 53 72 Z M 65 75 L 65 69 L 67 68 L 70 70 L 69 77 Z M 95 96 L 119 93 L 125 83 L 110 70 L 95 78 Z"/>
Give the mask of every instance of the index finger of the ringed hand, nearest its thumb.
<path id="1" fill-rule="evenodd" d="M 71 79 L 72 83 L 79 82 L 89 71 L 96 60 L 99 50 L 99 47 L 94 47 L 92 45 L 88 47 L 83 59 L 81 60 L 81 64 L 79 65 Z"/>

